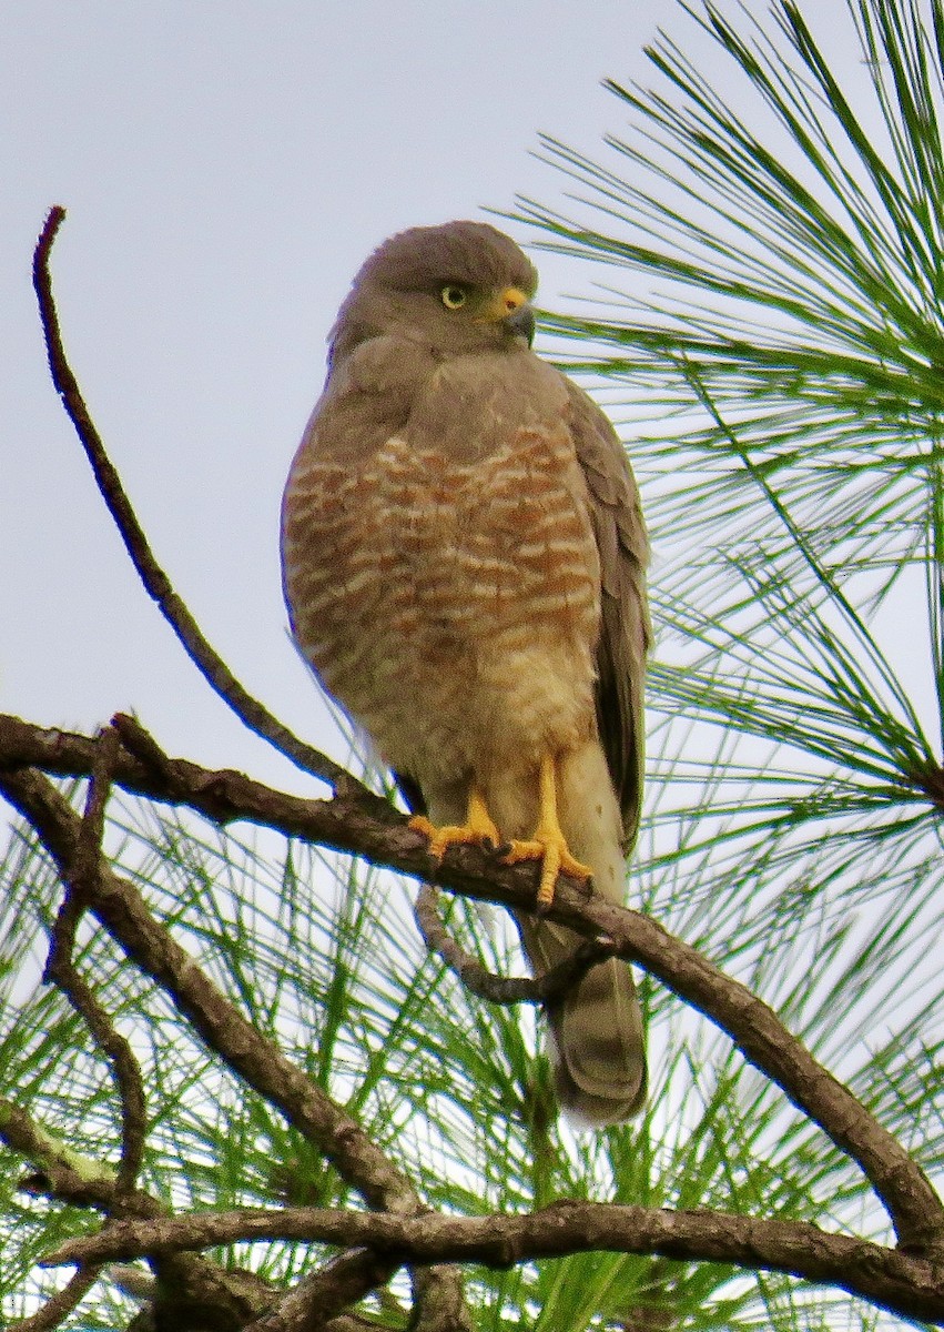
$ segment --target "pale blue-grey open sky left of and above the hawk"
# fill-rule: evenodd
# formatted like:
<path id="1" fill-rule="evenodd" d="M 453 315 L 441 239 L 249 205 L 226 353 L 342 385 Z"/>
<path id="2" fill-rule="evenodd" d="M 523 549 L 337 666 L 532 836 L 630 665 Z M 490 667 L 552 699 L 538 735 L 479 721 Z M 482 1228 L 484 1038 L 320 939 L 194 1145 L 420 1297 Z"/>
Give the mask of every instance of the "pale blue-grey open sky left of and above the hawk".
<path id="1" fill-rule="evenodd" d="M 337 306 L 403 226 L 561 202 L 538 132 L 619 131 L 600 80 L 647 77 L 660 24 L 694 27 L 674 0 L 0 3 L 0 710 L 134 710 L 170 753 L 314 794 L 210 694 L 97 497 L 31 286 L 48 208 L 67 352 L 157 558 L 246 687 L 344 757 L 278 578 Z M 542 269 L 545 304 L 581 289 Z"/>

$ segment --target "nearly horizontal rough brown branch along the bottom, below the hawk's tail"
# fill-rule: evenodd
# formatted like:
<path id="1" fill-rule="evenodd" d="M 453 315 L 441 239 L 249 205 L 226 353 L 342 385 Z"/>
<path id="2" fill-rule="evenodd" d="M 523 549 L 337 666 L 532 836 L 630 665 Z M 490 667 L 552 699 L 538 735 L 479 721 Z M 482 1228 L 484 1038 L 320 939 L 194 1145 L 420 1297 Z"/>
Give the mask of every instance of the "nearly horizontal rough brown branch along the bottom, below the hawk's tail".
<path id="1" fill-rule="evenodd" d="M 248 1208 L 173 1221 L 115 1221 L 99 1235 L 68 1240 L 47 1263 L 113 1261 L 277 1239 L 363 1245 L 399 1263 L 482 1263 L 498 1268 L 587 1251 L 656 1253 L 682 1261 L 786 1272 L 839 1287 L 900 1317 L 944 1321 L 944 1276 L 937 1264 L 924 1259 L 831 1235 L 806 1221 L 608 1203 L 558 1203 L 515 1216 L 405 1217 L 338 1208 Z"/>

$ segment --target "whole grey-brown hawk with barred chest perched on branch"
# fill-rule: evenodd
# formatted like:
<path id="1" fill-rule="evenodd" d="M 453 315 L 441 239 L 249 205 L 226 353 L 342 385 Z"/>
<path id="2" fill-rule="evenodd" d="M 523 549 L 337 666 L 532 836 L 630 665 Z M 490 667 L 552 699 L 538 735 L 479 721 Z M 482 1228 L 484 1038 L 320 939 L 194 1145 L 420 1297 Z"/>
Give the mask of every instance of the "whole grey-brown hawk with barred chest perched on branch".
<path id="1" fill-rule="evenodd" d="M 483 222 L 387 240 L 330 334 L 285 490 L 292 629 L 324 687 L 454 842 L 592 874 L 622 900 L 639 817 L 646 533 L 591 400 L 531 352 L 537 273 Z M 542 974 L 578 938 L 521 916 Z M 565 1108 L 626 1119 L 646 1094 L 630 967 L 550 1014 Z"/>

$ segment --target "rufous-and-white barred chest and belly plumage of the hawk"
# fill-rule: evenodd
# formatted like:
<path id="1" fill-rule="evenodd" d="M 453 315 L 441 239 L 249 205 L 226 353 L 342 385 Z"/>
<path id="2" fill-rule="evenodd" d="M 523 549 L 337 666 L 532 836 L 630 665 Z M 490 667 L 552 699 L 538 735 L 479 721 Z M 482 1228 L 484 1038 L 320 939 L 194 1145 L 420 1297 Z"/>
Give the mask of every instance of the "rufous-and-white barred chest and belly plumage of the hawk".
<path id="1" fill-rule="evenodd" d="M 507 422 L 490 442 L 455 457 L 410 421 L 352 464 L 316 429 L 286 492 L 296 637 L 421 785 L 487 782 L 510 749 L 537 765 L 595 726 L 599 566 L 570 433 Z"/>

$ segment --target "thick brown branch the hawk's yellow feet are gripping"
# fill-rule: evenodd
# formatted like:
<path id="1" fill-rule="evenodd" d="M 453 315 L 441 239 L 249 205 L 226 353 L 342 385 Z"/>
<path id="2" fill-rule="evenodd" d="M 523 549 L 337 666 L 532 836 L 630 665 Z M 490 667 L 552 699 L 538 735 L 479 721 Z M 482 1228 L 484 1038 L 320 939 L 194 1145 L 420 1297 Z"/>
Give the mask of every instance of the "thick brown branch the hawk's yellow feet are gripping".
<path id="1" fill-rule="evenodd" d="M 61 775 L 88 775 L 93 751 L 87 737 L 41 730 L 0 715 L 0 770 L 4 765 L 32 763 Z M 530 867 L 503 866 L 487 850 L 465 846 L 450 847 L 437 868 L 426 854 L 425 839 L 370 793 L 302 801 L 240 773 L 208 771 L 181 759 L 166 759 L 166 771 L 160 775 L 124 753 L 116 761 L 115 779 L 129 791 L 188 805 L 210 819 L 264 823 L 417 879 L 434 878 L 478 900 L 499 902 L 518 911 L 534 908 Z M 0 789 L 8 787 L 13 803 L 20 782 L 13 773 L 0 771 Z M 28 809 L 24 813 L 31 817 Z M 586 890 L 569 880 L 558 884 L 551 918 L 587 938 L 611 939 L 614 954 L 643 966 L 726 1031 L 744 1058 L 859 1164 L 888 1209 L 903 1245 L 920 1252 L 940 1243 L 944 1208 L 919 1164 L 746 986 L 726 976 L 658 922 L 598 895 L 587 899 Z"/>

